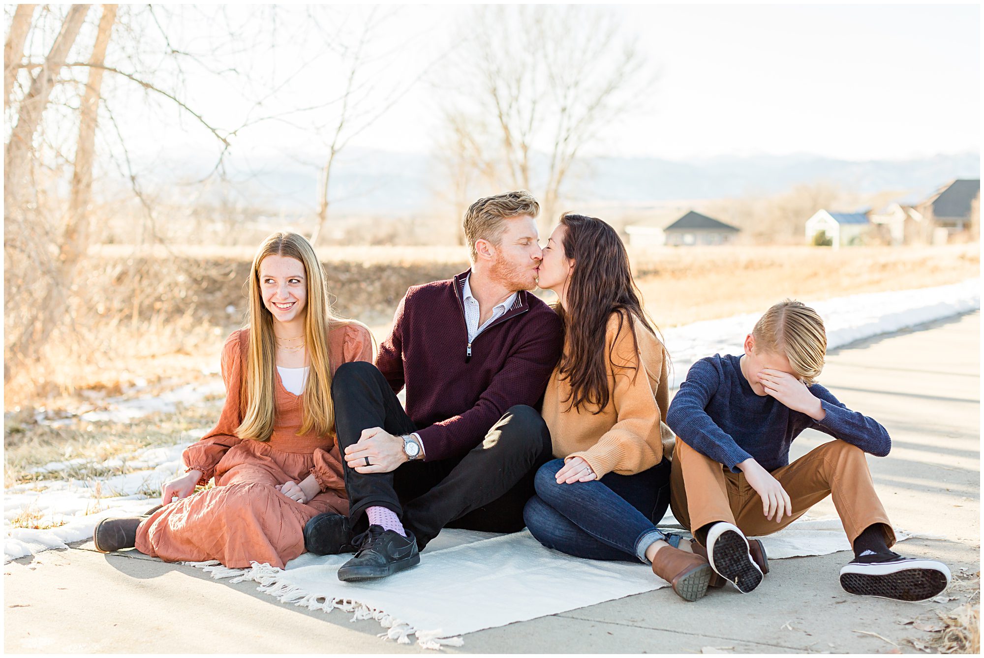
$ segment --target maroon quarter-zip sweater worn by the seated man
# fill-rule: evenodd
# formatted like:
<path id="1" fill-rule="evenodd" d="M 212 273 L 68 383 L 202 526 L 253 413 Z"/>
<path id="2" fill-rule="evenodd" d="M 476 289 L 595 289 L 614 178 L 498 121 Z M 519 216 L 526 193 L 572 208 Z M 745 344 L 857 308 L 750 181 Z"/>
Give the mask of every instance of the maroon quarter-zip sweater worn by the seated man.
<path id="1" fill-rule="evenodd" d="M 560 318 L 525 290 L 468 356 L 461 287 L 470 271 L 411 286 L 376 357 L 394 392 L 406 387 L 427 461 L 463 456 L 511 406 L 535 405 L 560 358 Z"/>

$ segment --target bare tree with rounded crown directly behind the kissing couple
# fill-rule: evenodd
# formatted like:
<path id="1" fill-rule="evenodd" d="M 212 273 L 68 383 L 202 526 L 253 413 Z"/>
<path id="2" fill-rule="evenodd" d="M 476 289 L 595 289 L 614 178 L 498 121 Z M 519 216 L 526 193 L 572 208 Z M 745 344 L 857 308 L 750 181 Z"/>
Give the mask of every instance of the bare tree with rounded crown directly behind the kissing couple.
<path id="1" fill-rule="evenodd" d="M 584 147 L 651 83 L 643 57 L 605 10 L 495 6 L 468 25 L 444 79 L 458 164 L 489 188 L 533 191 L 551 220 Z"/>

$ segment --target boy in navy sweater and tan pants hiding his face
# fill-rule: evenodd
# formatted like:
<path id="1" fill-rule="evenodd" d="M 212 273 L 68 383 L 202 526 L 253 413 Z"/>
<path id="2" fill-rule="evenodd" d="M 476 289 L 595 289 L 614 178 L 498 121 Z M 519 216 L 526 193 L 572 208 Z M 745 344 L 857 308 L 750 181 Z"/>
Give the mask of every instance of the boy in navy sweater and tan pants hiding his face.
<path id="1" fill-rule="evenodd" d="M 885 456 L 892 440 L 814 383 L 826 350 L 817 312 L 786 300 L 746 336 L 743 356 L 715 354 L 691 367 L 666 414 L 677 435 L 673 513 L 711 568 L 747 593 L 762 582 L 763 560 L 753 560 L 745 535 L 775 532 L 831 495 L 854 548 L 841 586 L 902 601 L 932 598 L 950 583 L 950 569 L 890 550 L 895 535 L 865 453 Z M 807 428 L 834 441 L 789 463 L 790 444 Z"/>

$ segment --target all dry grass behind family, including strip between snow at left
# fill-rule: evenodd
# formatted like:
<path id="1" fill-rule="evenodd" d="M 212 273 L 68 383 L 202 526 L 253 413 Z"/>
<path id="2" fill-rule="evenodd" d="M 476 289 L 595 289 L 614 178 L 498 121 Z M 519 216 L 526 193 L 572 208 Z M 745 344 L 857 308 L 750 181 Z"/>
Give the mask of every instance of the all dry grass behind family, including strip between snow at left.
<path id="1" fill-rule="evenodd" d="M 378 339 L 385 337 L 400 296 L 408 285 L 452 276 L 467 263 L 461 248 L 344 247 L 321 250 L 338 311 L 366 322 Z M 174 254 L 181 258 L 175 260 Z M 103 247 L 97 258 L 107 272 L 128 259 L 167 263 L 158 268 L 156 297 L 143 300 L 154 309 L 140 322 L 125 316 L 95 314 L 102 322 L 92 332 L 111 349 L 93 349 L 83 358 L 79 347 L 59 346 L 57 368 L 37 364 L 32 375 L 47 388 L 5 388 L 4 480 L 25 482 L 32 466 L 81 454 L 107 458 L 147 446 L 173 443 L 181 431 L 210 426 L 215 400 L 152 416 L 132 424 L 72 422 L 62 427 L 34 422 L 34 414 L 63 415 L 64 409 L 99 408 L 113 395 L 140 382 L 139 394 L 166 389 L 169 383 L 214 378 L 224 336 L 239 326 L 244 309 L 242 282 L 251 250 L 174 248 L 134 254 L 126 247 Z M 834 252 L 809 247 L 724 247 L 704 249 L 632 249 L 631 258 L 649 312 L 661 328 L 765 310 L 784 298 L 830 297 L 927 287 L 979 275 L 976 245 L 940 248 L 857 248 Z M 94 275 L 93 275 L 94 276 Z M 106 274 L 109 277 L 109 274 Z M 111 285 L 108 281 L 107 285 Z M 99 289 L 98 285 L 93 289 Z M 114 288 L 120 308 L 131 304 L 126 283 Z M 546 293 L 545 299 L 552 295 Z M 95 308 L 97 303 L 93 303 Z M 138 393 L 133 393 L 138 394 Z M 95 465 L 75 476 L 107 475 Z"/>

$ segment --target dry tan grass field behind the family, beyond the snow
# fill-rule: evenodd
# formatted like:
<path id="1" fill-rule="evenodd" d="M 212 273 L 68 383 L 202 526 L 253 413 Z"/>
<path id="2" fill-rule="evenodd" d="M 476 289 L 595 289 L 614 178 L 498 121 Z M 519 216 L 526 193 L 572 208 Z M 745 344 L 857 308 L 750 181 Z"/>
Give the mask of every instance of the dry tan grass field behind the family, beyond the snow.
<path id="1" fill-rule="evenodd" d="M 388 332 L 407 286 L 467 267 L 460 247 L 350 246 L 320 252 L 338 312 L 365 322 L 377 338 Z M 19 369 L 19 379 L 5 386 L 5 411 L 68 407 L 80 396 L 117 394 L 139 379 L 194 382 L 203 372 L 215 372 L 224 337 L 242 320 L 242 281 L 252 248 L 171 246 L 135 256 L 132 247 L 103 246 L 92 254 L 102 261 L 85 290 L 112 291 L 113 301 L 95 297 L 79 304 L 78 312 L 92 313 L 77 323 L 86 324 L 86 339 L 60 339 L 43 359 Z M 646 306 L 661 328 L 762 312 L 784 297 L 812 300 L 953 283 L 979 275 L 980 269 L 977 245 L 631 248 L 630 256 Z M 137 261 L 143 265 L 131 263 Z M 133 317 L 127 315 L 130 298 L 139 291 L 125 276 L 129 268 L 145 272 L 140 290 L 153 292 L 142 302 L 146 311 Z M 542 294 L 552 301 L 552 293 Z"/>

